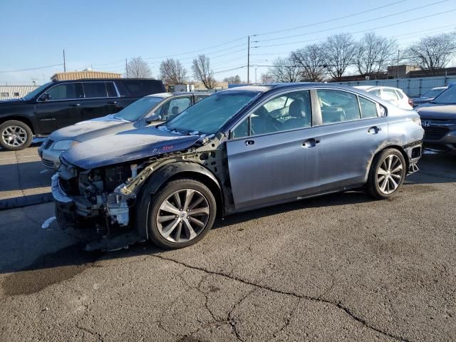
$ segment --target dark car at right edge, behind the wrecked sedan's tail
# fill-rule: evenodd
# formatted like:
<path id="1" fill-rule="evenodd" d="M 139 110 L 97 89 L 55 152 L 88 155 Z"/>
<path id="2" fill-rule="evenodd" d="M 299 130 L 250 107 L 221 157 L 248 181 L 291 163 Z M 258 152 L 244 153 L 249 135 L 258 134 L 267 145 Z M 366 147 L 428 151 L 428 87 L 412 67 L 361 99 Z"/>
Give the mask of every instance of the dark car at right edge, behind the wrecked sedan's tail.
<path id="1" fill-rule="evenodd" d="M 424 145 L 456 155 L 456 86 L 416 109 L 425 129 Z"/>

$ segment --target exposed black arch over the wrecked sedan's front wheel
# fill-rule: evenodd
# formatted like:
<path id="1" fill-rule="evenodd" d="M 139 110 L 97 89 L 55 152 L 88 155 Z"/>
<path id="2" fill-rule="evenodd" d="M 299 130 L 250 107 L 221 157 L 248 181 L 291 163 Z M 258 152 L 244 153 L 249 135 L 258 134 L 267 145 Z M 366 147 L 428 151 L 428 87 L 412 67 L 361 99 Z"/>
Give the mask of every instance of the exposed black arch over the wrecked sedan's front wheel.
<path id="1" fill-rule="evenodd" d="M 223 190 L 217 177 L 196 162 L 172 162 L 160 167 L 145 181 L 138 194 L 135 205 L 136 229 L 143 239 L 148 238 L 147 220 L 149 217 L 149 198 L 159 192 L 168 182 L 182 178 L 190 178 L 202 182 L 209 187 L 217 203 L 217 216 L 224 212 Z M 142 210 L 147 205 L 146 210 Z"/>

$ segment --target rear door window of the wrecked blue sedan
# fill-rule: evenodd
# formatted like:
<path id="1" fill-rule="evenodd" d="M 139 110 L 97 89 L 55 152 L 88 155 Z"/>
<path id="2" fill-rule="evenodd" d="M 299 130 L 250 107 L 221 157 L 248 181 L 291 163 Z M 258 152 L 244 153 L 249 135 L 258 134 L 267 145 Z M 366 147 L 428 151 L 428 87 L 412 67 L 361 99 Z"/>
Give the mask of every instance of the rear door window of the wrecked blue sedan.
<path id="1" fill-rule="evenodd" d="M 361 119 L 358 97 L 342 90 L 317 90 L 323 125 Z"/>

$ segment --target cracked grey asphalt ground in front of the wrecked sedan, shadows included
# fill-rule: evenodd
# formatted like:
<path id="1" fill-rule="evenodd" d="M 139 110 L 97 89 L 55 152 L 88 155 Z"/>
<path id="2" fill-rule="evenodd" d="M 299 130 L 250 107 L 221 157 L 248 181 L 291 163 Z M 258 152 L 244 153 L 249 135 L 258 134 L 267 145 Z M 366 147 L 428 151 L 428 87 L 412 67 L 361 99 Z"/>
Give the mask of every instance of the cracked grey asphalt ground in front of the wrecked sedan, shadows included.
<path id="1" fill-rule="evenodd" d="M 456 158 L 393 199 L 328 195 L 219 220 L 199 244 L 83 252 L 0 212 L 0 341 L 455 341 Z"/>

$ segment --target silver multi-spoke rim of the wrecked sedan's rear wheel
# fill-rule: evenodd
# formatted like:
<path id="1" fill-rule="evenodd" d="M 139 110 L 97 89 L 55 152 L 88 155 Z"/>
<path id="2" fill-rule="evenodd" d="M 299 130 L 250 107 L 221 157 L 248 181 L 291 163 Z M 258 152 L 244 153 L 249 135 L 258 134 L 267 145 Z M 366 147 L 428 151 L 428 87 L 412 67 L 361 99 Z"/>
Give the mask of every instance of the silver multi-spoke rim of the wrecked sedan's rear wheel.
<path id="1" fill-rule="evenodd" d="M 397 155 L 387 155 L 377 170 L 377 185 L 381 192 L 389 195 L 398 189 L 403 178 L 403 162 Z"/>

